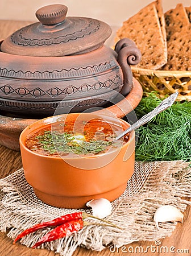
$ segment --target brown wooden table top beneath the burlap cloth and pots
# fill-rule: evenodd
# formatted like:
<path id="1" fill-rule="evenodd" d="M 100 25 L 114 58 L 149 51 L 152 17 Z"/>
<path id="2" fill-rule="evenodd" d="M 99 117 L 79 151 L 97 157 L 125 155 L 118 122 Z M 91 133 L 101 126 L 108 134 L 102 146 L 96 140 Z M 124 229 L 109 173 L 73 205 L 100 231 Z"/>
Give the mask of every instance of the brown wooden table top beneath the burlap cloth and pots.
<path id="1" fill-rule="evenodd" d="M 13 33 L 20 27 L 26 26 L 30 22 L 20 22 L 14 20 L 0 20 L 0 39 L 6 38 L 6 36 Z M 0 178 L 6 177 L 22 167 L 20 158 L 20 152 L 9 150 L 6 147 L 0 146 Z M 191 201 L 191 199 L 190 199 Z M 119 251 L 110 251 L 107 247 L 105 250 L 92 251 L 84 248 L 78 248 L 73 256 L 111 256 L 111 255 L 177 255 L 178 250 L 181 249 L 181 255 L 191 255 L 191 210 L 188 206 L 184 212 L 184 223 L 178 223 L 175 231 L 171 237 L 161 239 L 161 246 L 167 246 L 169 253 L 164 253 L 162 247 L 160 247 L 155 253 L 155 241 L 140 241 L 133 242 Z M 132 252 L 136 250 L 136 246 L 142 246 L 143 250 L 146 250 L 148 246 L 152 246 L 152 250 L 148 249 L 148 253 Z M 175 247 L 175 252 L 170 252 L 170 248 Z M 128 252 L 128 250 L 130 252 Z M 160 252 L 161 250 L 161 252 Z M 187 250 L 187 251 L 186 251 Z M 6 236 L 5 233 L 0 232 L 0 255 L 1 256 L 53 256 L 55 253 L 44 249 L 31 249 L 26 246 L 12 244 L 12 240 Z"/>

